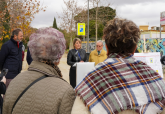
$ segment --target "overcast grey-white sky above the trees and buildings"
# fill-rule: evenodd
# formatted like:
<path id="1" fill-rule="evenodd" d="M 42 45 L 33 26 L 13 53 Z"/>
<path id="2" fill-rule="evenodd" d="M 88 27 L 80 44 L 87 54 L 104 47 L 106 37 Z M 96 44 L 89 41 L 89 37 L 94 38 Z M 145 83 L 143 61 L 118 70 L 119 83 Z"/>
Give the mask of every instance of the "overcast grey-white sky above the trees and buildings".
<path id="1" fill-rule="evenodd" d="M 47 6 L 46 11 L 36 14 L 31 26 L 35 28 L 52 26 L 54 17 L 59 25 L 57 13 L 62 14 L 62 7 L 65 7 L 63 0 L 40 1 Z M 86 1 L 79 0 L 79 6 L 84 6 Z M 160 12 L 165 11 L 165 0 L 108 0 L 108 2 L 112 3 L 111 7 L 116 9 L 118 17 L 132 20 L 138 26 L 148 24 L 150 27 L 160 26 Z"/>

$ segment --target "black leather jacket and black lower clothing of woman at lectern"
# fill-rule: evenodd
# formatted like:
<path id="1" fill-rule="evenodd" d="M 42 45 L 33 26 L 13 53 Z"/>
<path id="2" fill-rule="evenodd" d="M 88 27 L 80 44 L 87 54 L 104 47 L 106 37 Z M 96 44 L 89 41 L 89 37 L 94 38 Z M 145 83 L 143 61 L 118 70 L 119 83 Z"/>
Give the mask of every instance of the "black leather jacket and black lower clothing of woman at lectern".
<path id="1" fill-rule="evenodd" d="M 78 49 L 78 52 L 80 54 L 80 57 L 78 56 L 78 53 L 75 49 L 69 50 L 68 56 L 67 56 L 67 64 L 70 65 L 70 84 L 74 88 L 76 86 L 76 67 L 72 67 L 76 62 L 84 61 L 87 62 L 87 56 L 86 51 L 83 49 Z"/>

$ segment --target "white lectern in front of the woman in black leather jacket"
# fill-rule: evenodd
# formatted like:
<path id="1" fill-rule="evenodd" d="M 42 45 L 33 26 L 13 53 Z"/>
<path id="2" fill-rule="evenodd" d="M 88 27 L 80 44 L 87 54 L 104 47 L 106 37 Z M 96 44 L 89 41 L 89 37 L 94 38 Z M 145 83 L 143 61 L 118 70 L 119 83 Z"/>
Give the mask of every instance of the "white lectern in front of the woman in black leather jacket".
<path id="1" fill-rule="evenodd" d="M 84 77 L 95 67 L 95 62 L 84 62 L 76 64 L 76 85 L 78 85 Z"/>

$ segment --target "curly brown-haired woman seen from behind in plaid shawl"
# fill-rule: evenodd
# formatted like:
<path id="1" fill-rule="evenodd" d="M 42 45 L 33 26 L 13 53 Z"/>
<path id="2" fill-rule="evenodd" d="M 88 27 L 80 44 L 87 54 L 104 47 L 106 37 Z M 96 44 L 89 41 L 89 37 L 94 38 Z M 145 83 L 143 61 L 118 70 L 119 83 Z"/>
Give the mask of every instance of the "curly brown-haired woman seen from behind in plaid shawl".
<path id="1" fill-rule="evenodd" d="M 115 18 L 104 28 L 108 58 L 75 88 L 72 114 L 165 114 L 165 82 L 150 66 L 134 58 L 138 26 Z"/>

